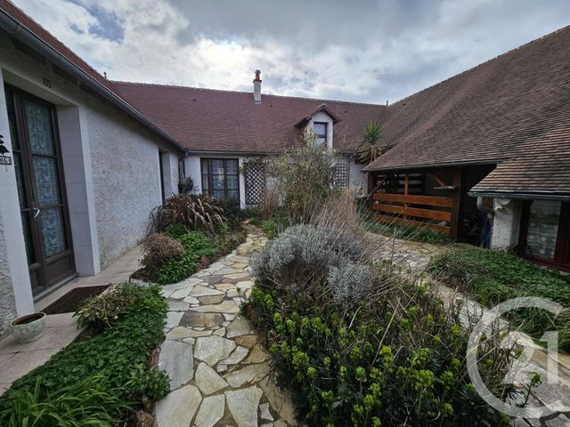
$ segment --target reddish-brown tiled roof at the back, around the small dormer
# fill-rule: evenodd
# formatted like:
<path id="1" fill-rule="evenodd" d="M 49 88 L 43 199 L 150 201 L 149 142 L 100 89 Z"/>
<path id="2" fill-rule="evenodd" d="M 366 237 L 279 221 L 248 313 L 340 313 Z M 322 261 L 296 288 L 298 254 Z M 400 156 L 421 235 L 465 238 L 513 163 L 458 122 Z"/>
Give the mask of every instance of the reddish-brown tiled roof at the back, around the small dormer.
<path id="1" fill-rule="evenodd" d="M 339 120 L 333 147 L 354 153 L 362 143 L 365 125 L 385 106 L 346 101 L 314 100 L 195 87 L 114 82 L 122 96 L 184 147 L 196 151 L 272 153 L 297 143 L 295 125 L 315 109 Z"/>

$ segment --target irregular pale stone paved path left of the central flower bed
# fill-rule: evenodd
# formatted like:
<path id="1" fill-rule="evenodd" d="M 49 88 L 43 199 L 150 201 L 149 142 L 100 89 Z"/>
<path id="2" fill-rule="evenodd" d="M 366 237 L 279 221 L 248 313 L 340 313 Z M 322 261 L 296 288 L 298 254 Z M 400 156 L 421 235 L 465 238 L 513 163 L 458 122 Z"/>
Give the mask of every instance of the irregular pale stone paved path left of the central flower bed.
<path id="1" fill-rule="evenodd" d="M 265 243 L 249 228 L 232 254 L 163 287 L 169 308 L 159 367 L 171 391 L 157 403 L 158 427 L 296 425 L 289 395 L 270 375 L 270 355 L 239 314 L 253 286 L 249 256 Z"/>

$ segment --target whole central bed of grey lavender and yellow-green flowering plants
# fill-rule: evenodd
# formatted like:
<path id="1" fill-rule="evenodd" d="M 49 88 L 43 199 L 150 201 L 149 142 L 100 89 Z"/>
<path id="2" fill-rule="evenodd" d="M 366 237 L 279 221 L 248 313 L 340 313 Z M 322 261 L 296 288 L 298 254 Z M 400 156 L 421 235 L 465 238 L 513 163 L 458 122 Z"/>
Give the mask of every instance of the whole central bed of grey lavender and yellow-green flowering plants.
<path id="1" fill-rule="evenodd" d="M 308 425 L 500 426 L 469 383 L 468 333 L 391 262 L 371 262 L 354 201 L 333 199 L 310 224 L 283 230 L 252 259 L 244 312 L 273 353 Z M 490 334 L 480 372 L 493 393 L 511 354 Z"/>

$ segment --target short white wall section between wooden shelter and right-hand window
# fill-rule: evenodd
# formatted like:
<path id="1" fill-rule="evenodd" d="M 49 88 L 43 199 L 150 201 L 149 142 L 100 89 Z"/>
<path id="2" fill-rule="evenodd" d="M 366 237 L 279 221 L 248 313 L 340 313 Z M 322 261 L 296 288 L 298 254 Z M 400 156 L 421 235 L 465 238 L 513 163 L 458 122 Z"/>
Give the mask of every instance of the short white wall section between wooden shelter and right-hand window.
<path id="1" fill-rule="evenodd" d="M 509 198 L 493 199 L 492 249 L 508 250 L 518 243 L 522 201 Z"/>

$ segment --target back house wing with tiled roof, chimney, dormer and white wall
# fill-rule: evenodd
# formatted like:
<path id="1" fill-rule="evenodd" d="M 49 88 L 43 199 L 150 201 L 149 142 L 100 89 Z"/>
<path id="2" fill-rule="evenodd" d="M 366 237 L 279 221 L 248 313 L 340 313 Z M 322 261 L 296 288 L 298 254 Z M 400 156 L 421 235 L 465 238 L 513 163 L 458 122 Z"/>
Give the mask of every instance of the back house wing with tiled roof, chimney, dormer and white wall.
<path id="1" fill-rule="evenodd" d="M 183 175 L 198 193 L 238 197 L 242 207 L 258 205 L 263 173 L 240 175 L 249 157 L 282 153 L 313 128 L 318 141 L 335 149 L 341 187 L 366 189 L 363 165 L 354 162 L 362 129 L 386 106 L 263 94 L 256 72 L 253 92 L 113 82 L 121 96 L 186 149 Z"/>

